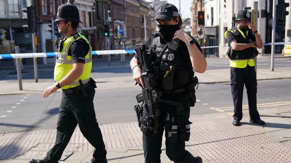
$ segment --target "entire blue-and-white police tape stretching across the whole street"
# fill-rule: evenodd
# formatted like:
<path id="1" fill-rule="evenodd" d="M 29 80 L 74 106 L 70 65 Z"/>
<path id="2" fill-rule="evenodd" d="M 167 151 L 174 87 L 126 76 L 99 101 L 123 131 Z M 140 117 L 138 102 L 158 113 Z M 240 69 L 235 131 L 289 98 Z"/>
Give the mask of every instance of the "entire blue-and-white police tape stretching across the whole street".
<path id="1" fill-rule="evenodd" d="M 274 42 L 274 43 L 264 43 L 263 45 L 286 45 L 291 44 L 291 42 Z M 225 46 L 206 46 L 201 47 L 201 49 L 206 48 L 218 48 L 218 47 L 227 47 Z M 109 55 L 109 54 L 134 54 L 133 49 L 127 50 L 98 50 L 92 51 L 92 56 L 95 55 Z M 18 54 L 0 54 L 0 59 L 12 59 L 12 58 L 34 58 L 34 57 L 55 57 L 57 53 L 18 53 Z"/>

